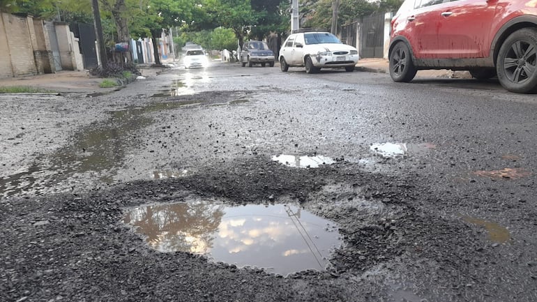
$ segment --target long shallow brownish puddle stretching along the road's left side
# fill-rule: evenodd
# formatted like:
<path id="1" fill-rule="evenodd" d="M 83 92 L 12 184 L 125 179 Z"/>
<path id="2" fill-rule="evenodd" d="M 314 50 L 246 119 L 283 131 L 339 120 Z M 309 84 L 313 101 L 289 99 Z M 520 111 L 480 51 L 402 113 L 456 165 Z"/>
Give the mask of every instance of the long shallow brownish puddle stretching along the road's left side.
<path id="1" fill-rule="evenodd" d="M 92 123 L 70 138 L 70 144 L 50 155 L 38 156 L 26 172 L 0 179 L 0 196 L 22 192 L 68 192 L 77 186 L 78 179 L 96 176 L 101 183 L 113 183 L 117 170 L 123 165 L 127 152 L 142 144 L 133 133 L 155 121 L 146 114 L 173 110 L 201 100 L 153 103 L 146 107 L 130 107 L 108 112 L 105 121 Z"/>

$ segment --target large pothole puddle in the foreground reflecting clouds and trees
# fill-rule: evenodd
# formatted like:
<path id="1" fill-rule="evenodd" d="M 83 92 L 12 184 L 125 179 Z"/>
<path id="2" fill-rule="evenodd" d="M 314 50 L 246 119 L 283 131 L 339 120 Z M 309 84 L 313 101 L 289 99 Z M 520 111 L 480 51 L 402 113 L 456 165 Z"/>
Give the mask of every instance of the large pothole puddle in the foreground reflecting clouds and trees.
<path id="1" fill-rule="evenodd" d="M 333 248 L 342 244 L 334 222 L 289 204 L 139 206 L 128 209 L 123 223 L 135 227 L 160 252 L 191 252 L 212 262 L 280 275 L 322 271 Z"/>

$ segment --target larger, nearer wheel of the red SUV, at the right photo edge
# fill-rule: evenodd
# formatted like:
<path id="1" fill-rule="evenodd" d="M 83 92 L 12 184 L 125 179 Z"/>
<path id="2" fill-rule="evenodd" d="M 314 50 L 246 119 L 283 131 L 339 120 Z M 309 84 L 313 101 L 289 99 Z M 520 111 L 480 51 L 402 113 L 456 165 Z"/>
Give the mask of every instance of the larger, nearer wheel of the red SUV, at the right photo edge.
<path id="1" fill-rule="evenodd" d="M 519 29 L 504 41 L 496 69 L 501 86 L 511 92 L 537 91 L 537 29 Z"/>

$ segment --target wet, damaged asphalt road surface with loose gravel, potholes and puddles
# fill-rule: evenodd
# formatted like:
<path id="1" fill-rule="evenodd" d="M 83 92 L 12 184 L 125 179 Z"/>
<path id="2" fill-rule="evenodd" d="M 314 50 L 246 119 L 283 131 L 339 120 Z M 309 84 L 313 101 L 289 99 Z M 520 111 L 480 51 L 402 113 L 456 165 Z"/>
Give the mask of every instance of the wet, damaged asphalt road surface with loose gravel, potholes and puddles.
<path id="1" fill-rule="evenodd" d="M 169 68 L 0 95 L 0 301 L 537 301 L 537 102 Z"/>

